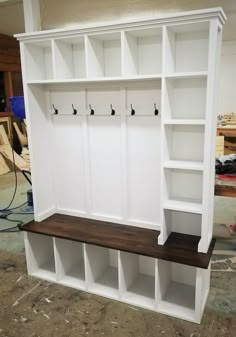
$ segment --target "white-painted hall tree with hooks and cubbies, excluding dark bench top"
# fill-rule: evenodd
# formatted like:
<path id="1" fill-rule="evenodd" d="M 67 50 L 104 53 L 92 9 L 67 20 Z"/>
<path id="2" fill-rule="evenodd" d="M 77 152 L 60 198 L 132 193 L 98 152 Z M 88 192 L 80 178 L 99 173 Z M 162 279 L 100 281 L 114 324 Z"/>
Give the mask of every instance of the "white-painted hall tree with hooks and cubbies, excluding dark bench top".
<path id="1" fill-rule="evenodd" d="M 221 8 L 17 35 L 35 220 L 212 239 Z M 26 233 L 30 274 L 200 322 L 210 269 Z"/>

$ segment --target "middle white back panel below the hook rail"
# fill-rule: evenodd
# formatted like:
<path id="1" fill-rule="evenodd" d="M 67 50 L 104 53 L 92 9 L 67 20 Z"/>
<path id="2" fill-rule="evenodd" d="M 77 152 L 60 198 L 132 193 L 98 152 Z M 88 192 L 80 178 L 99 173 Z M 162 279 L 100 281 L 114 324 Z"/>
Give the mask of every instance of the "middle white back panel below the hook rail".
<path id="1" fill-rule="evenodd" d="M 122 218 L 120 117 L 88 116 L 92 214 Z"/>

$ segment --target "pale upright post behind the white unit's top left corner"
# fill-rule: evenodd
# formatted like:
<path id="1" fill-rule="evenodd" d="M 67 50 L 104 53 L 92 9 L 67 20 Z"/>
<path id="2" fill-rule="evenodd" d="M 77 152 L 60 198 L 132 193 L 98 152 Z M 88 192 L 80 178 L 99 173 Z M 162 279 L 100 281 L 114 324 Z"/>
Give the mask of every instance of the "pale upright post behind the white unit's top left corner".
<path id="1" fill-rule="evenodd" d="M 39 0 L 23 0 L 25 31 L 27 33 L 41 30 Z"/>

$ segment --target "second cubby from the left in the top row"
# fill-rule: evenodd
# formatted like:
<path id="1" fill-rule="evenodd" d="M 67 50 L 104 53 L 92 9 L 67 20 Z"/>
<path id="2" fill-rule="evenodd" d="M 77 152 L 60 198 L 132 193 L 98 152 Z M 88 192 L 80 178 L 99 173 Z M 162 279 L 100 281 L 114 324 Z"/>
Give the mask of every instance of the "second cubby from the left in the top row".
<path id="1" fill-rule="evenodd" d="M 55 77 L 86 77 L 84 37 L 55 40 Z"/>

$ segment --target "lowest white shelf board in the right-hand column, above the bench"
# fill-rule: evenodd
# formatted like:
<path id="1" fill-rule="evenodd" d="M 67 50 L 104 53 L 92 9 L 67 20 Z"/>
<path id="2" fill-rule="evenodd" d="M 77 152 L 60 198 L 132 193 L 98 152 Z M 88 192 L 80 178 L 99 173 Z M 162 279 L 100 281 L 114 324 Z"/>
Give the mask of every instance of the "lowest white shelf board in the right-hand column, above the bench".
<path id="1" fill-rule="evenodd" d="M 191 212 L 191 213 L 202 213 L 202 204 L 195 200 L 195 201 L 189 201 L 189 199 L 184 200 L 175 200 L 175 199 L 169 199 L 164 202 L 164 208 L 175 210 L 175 211 L 183 211 L 183 212 Z"/>

